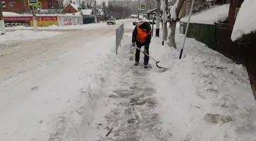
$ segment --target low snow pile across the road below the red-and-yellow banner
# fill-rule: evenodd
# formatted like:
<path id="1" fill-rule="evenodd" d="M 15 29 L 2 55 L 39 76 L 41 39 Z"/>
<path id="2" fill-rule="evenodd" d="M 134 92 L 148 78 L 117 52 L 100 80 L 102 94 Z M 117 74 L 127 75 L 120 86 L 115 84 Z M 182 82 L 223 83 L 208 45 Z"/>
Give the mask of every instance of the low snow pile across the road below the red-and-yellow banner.
<path id="1" fill-rule="evenodd" d="M 34 32 L 32 30 L 16 30 L 14 32 L 6 32 L 6 35 L 0 36 L 0 42 L 9 42 L 24 39 L 40 39 L 49 38 L 61 34 L 60 32 Z"/>

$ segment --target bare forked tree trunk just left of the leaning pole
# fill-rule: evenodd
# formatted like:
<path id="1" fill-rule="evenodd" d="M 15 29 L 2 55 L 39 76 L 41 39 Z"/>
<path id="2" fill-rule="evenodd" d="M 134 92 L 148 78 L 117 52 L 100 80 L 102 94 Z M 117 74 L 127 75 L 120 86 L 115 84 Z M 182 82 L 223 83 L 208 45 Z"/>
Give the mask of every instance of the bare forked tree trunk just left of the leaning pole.
<path id="1" fill-rule="evenodd" d="M 185 0 L 178 0 L 177 1 L 178 2 L 178 6 L 176 8 L 177 17 L 178 17 L 178 13 L 180 13 L 180 11 L 181 11 L 181 8 L 184 4 L 184 1 Z M 177 19 L 173 19 L 173 20 L 170 21 L 171 35 L 169 37 L 169 41 L 170 41 L 169 47 L 174 47 L 175 49 L 177 49 L 176 42 L 175 42 L 176 23 L 177 23 Z"/>

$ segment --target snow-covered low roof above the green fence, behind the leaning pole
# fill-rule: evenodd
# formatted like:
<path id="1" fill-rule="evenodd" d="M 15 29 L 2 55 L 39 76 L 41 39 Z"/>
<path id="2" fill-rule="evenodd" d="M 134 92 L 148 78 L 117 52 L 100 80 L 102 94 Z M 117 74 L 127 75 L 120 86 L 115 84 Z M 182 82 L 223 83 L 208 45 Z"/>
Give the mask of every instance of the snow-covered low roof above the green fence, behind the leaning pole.
<path id="1" fill-rule="evenodd" d="M 253 1 L 253 0 L 252 0 Z M 203 23 L 214 25 L 214 23 L 224 22 L 228 18 L 229 4 L 214 6 L 205 11 L 191 16 L 190 23 Z M 181 22 L 187 22 L 188 16 L 181 18 Z"/>

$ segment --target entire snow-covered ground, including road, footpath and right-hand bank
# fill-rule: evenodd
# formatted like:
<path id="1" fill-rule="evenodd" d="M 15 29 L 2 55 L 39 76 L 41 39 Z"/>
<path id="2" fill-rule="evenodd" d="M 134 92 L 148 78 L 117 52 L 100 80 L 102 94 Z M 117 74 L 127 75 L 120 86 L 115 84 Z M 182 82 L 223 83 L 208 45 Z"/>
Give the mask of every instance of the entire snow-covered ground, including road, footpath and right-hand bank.
<path id="1" fill-rule="evenodd" d="M 0 140 L 255 141 L 256 104 L 243 66 L 195 39 L 179 60 L 179 51 L 153 38 L 150 55 L 169 70 L 152 59 L 152 68 L 135 67 L 134 26 L 124 23 L 117 56 L 116 26 L 4 50 Z M 176 39 L 180 48 L 183 35 Z"/>

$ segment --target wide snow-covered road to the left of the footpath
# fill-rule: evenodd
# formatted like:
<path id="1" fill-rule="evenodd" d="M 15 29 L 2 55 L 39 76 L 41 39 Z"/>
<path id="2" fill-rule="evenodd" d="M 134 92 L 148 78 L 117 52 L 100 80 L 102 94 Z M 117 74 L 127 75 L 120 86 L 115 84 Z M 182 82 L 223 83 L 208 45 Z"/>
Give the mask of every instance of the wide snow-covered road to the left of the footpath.
<path id="1" fill-rule="evenodd" d="M 61 112 L 82 100 L 92 72 L 101 71 L 99 60 L 115 48 L 118 25 L 63 32 L 1 49 L 0 140 L 59 137 L 57 122 L 67 118 Z"/>

